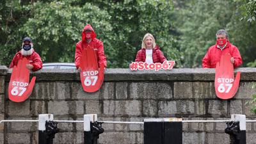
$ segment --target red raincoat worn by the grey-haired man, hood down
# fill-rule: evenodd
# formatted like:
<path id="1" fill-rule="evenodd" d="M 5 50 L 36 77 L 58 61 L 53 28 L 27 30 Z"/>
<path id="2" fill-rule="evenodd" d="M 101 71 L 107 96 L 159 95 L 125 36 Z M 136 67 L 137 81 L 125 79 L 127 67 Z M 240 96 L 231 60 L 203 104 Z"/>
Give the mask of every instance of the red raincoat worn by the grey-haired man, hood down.
<path id="1" fill-rule="evenodd" d="M 222 55 L 230 54 L 235 62 L 234 62 L 234 68 L 239 67 L 243 63 L 241 55 L 239 50 L 235 45 L 230 44 L 230 42 L 227 42 L 226 47 L 221 50 L 217 47 L 217 44 L 212 45 L 207 53 L 205 54 L 203 60 L 202 60 L 202 67 L 203 68 L 215 68 L 217 62 L 220 61 L 220 58 Z"/>

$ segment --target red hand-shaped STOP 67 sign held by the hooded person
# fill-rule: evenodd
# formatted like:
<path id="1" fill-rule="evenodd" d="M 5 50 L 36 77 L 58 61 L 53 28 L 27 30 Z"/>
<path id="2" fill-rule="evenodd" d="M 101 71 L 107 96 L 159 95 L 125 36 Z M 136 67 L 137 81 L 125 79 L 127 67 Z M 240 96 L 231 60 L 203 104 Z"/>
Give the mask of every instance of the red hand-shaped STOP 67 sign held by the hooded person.
<path id="1" fill-rule="evenodd" d="M 80 79 L 85 92 L 96 92 L 104 80 L 104 63 L 98 61 L 92 47 L 86 47 L 81 57 Z"/>

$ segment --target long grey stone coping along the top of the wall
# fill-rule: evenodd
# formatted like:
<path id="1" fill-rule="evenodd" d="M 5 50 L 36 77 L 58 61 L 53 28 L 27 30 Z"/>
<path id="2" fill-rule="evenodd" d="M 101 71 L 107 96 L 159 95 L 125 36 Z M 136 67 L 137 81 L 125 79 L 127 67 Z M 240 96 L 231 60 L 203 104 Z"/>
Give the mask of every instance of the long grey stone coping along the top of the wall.
<path id="1" fill-rule="evenodd" d="M 241 72 L 241 81 L 255 81 L 256 68 L 237 68 Z M 0 66 L 0 75 L 10 80 L 12 69 Z M 172 70 L 138 70 L 129 68 L 107 68 L 104 81 L 214 81 L 214 68 L 173 68 Z M 76 69 L 44 69 L 31 72 L 36 81 L 80 81 Z"/>

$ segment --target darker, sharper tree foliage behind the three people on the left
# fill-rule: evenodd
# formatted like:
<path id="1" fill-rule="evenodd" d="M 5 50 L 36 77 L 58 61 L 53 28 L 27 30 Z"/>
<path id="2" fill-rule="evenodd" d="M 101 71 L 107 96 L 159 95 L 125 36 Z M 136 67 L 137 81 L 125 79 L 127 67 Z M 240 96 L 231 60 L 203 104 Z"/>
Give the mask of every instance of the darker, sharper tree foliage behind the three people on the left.
<path id="1" fill-rule="evenodd" d="M 5 22 L 13 20 L 16 23 L 1 31 L 4 35 L 0 43 L 4 47 L 0 54 L 2 64 L 10 63 L 24 36 L 31 36 L 35 50 L 44 62 L 72 62 L 76 42 L 81 40 L 81 30 L 86 24 L 91 24 L 97 38 L 104 42 L 108 67 L 128 67 L 148 32 L 156 36 L 157 44 L 170 60 L 180 60 L 177 40 L 170 33 L 170 1 L 55 0 L 21 3 L 13 0 L 3 5 L 5 10 L 1 15 Z M 17 18 L 8 15 L 9 12 Z"/>

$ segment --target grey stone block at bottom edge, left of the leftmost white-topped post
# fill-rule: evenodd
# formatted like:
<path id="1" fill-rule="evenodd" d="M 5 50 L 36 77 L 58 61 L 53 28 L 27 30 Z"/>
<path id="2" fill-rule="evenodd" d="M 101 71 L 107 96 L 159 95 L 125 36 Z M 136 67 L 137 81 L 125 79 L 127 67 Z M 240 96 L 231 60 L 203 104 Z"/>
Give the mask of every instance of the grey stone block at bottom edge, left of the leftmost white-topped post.
<path id="1" fill-rule="evenodd" d="M 32 144 L 30 141 L 31 134 L 28 132 L 6 132 L 4 137 L 8 144 Z"/>

